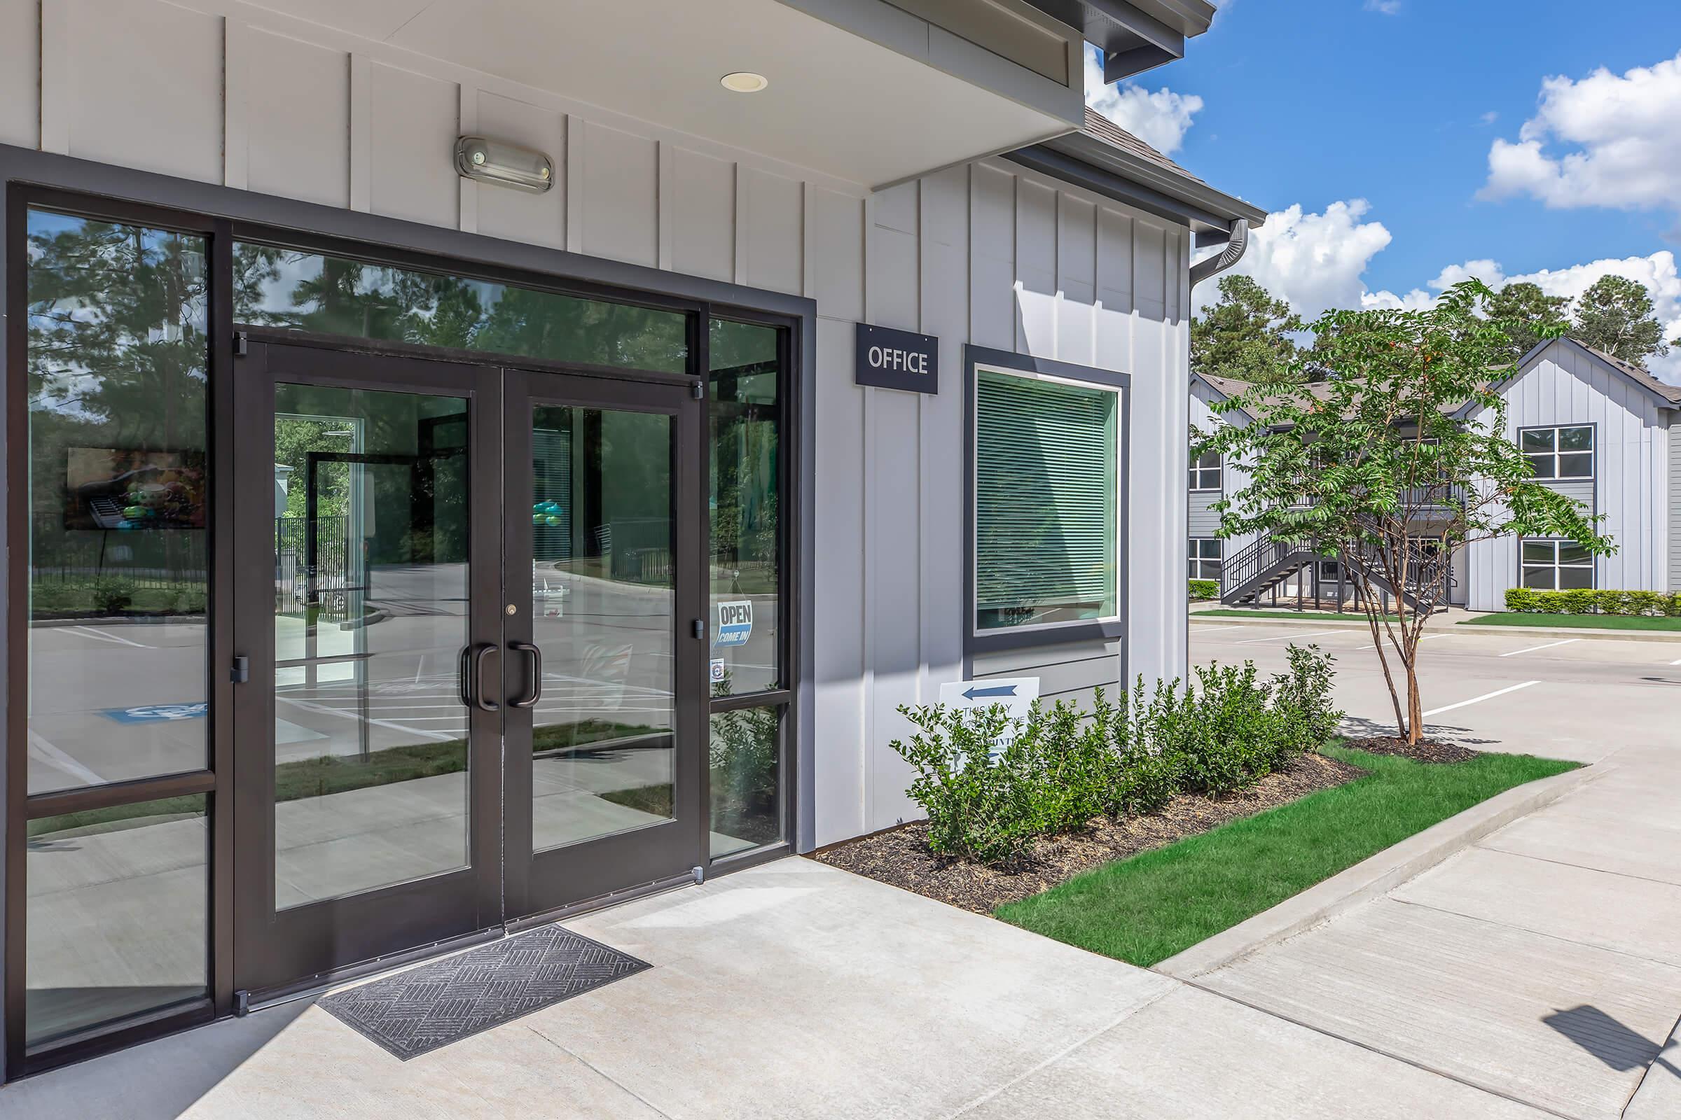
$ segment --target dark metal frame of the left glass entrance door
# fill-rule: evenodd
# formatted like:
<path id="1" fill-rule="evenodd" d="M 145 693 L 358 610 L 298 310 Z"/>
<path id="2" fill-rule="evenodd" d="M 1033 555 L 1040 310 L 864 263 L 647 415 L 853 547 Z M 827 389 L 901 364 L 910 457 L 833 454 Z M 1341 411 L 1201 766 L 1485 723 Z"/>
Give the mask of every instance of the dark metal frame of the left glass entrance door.
<path id="1" fill-rule="evenodd" d="M 274 386 L 324 385 L 461 396 L 467 401 L 471 492 L 467 645 L 501 646 L 501 376 L 494 368 L 377 356 L 247 336 L 235 361 L 235 479 L 267 494 L 274 452 Z M 341 898 L 274 907 L 274 526 L 267 500 L 235 510 L 235 653 L 249 682 L 235 704 L 235 987 L 256 1002 L 308 989 L 356 964 L 501 925 L 501 725 L 489 705 L 467 705 L 469 861 Z"/>

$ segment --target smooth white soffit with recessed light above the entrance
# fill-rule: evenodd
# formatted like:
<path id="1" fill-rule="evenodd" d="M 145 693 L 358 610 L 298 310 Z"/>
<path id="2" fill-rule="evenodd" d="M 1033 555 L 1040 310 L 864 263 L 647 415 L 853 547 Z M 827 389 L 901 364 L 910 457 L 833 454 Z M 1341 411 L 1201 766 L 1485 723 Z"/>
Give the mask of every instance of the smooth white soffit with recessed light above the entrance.
<path id="1" fill-rule="evenodd" d="M 259 2 L 862 186 L 1071 128 L 780 0 Z M 770 87 L 723 89 L 735 71 Z"/>

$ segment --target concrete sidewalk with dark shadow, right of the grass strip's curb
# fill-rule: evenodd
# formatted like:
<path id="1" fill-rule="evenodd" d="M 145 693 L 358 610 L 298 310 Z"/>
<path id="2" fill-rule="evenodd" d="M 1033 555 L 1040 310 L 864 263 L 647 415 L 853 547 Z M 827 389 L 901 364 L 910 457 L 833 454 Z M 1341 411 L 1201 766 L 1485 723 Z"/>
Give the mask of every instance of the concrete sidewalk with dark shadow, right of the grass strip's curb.
<path id="1" fill-rule="evenodd" d="M 1627 747 L 1431 871 L 1192 984 L 1584 1120 L 1681 1117 L 1676 756 Z M 1656 1063 L 1656 1065 L 1654 1065 Z"/>

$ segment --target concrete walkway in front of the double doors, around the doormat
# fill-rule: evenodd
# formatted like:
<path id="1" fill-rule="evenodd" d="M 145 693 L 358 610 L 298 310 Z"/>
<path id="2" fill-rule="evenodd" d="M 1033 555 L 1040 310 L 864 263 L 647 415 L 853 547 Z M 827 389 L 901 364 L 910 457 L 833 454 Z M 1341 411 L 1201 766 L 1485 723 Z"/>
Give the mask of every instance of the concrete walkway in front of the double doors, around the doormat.
<path id="1" fill-rule="evenodd" d="M 1224 994 L 809 860 L 570 925 L 656 967 L 407 1063 L 319 1007 L 287 1004 L 0 1090 L 0 1115 L 1543 1115 Z M 1637 1021 L 1651 1029 L 1651 1016 Z"/>

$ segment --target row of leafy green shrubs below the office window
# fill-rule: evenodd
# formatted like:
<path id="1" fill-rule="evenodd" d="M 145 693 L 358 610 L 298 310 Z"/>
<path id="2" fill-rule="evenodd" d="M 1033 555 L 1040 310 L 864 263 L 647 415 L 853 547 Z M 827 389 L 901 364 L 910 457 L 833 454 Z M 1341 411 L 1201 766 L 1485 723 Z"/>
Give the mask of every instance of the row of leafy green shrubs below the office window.
<path id="1" fill-rule="evenodd" d="M 1227 796 L 1318 749 L 1341 720 L 1331 663 L 1291 646 L 1289 670 L 1264 682 L 1247 662 L 1209 665 L 1192 683 L 1146 695 L 1140 677 L 1121 704 L 1096 688 L 1089 712 L 1057 700 L 1025 719 L 1002 705 L 901 707 L 916 734 L 893 749 L 916 769 L 909 796 L 933 851 L 1012 861 L 1039 836 L 1150 813 L 1178 793 Z"/>

